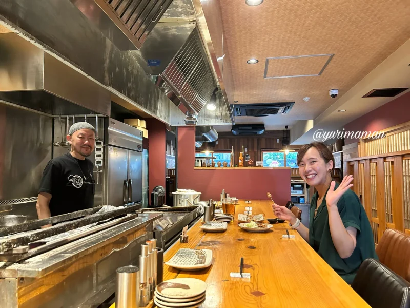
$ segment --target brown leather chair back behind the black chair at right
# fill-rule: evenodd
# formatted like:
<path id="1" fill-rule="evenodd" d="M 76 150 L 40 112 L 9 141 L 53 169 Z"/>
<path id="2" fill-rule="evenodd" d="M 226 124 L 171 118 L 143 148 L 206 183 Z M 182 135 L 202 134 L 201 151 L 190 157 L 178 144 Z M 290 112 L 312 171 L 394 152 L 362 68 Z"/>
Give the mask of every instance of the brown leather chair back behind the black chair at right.
<path id="1" fill-rule="evenodd" d="M 387 229 L 376 247 L 381 263 L 410 282 L 410 236 Z"/>

